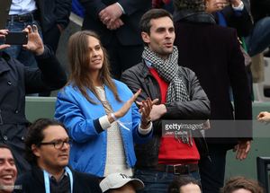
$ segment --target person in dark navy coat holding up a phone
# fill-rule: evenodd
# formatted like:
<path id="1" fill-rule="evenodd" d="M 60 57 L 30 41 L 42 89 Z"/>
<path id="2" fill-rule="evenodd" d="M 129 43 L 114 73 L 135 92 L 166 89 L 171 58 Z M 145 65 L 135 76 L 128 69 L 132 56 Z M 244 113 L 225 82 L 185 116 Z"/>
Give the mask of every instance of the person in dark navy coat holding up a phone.
<path id="1" fill-rule="evenodd" d="M 64 69 L 52 51 L 43 46 L 36 26 L 28 31 L 28 44 L 38 61 L 39 68 L 29 68 L 4 52 L 9 45 L 0 45 L 0 142 L 10 145 L 18 172 L 29 169 L 23 159 L 24 136 L 29 122 L 25 118 L 25 94 L 52 91 L 67 83 Z M 1 30 L 4 37 L 7 31 Z"/>

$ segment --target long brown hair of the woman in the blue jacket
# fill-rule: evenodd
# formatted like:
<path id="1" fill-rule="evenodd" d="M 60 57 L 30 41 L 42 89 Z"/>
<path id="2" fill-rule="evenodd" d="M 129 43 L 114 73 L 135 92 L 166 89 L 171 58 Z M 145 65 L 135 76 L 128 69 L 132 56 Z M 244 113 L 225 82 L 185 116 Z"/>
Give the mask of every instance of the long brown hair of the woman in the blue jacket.
<path id="1" fill-rule="evenodd" d="M 96 102 L 90 98 L 86 90 L 89 89 L 100 100 L 97 92 L 95 92 L 94 84 L 89 77 L 89 64 L 90 55 L 88 48 L 88 37 L 94 37 L 99 40 L 101 48 L 103 50 L 103 66 L 99 71 L 99 80 L 105 84 L 112 91 L 114 98 L 117 101 L 121 101 L 115 83 L 112 81 L 109 69 L 109 59 L 105 48 L 103 48 L 98 35 L 94 31 L 77 31 L 68 40 L 68 59 L 70 66 L 70 75 L 68 83 L 76 86 L 80 92 L 85 96 L 86 100 L 96 104 Z"/>

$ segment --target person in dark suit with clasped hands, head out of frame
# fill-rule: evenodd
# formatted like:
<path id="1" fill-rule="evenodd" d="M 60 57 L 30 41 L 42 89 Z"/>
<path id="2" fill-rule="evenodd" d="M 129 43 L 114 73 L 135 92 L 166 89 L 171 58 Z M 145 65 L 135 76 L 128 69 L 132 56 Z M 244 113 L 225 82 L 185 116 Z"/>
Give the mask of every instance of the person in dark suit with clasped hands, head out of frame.
<path id="1" fill-rule="evenodd" d="M 83 30 L 100 35 L 108 51 L 112 75 L 119 79 L 121 72 L 141 60 L 143 42 L 139 20 L 151 8 L 151 0 L 80 0 L 85 8 Z"/>

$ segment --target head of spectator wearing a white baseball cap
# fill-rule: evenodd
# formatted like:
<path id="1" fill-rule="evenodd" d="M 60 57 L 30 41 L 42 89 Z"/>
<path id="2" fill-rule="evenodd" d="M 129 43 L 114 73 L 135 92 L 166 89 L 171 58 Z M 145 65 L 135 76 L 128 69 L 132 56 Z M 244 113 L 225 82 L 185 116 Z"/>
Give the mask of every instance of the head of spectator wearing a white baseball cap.
<path id="1" fill-rule="evenodd" d="M 141 180 L 131 179 L 122 173 L 108 175 L 100 182 L 99 186 L 104 193 L 135 193 L 136 190 L 144 188 Z"/>

